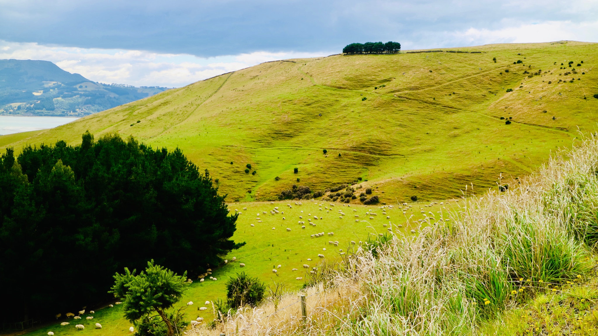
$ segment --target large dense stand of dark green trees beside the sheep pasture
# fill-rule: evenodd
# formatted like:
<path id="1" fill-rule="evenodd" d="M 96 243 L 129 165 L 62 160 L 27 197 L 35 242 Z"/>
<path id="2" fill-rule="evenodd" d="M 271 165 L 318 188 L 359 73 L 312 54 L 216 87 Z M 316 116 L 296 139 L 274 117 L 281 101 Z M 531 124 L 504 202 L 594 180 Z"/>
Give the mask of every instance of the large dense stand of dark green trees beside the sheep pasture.
<path id="1" fill-rule="evenodd" d="M 224 196 L 225 197 L 225 196 Z M 244 243 L 206 170 L 179 149 L 89 132 L 79 146 L 0 158 L 0 319 L 48 317 L 109 300 L 112 275 L 151 259 L 204 273 Z"/>

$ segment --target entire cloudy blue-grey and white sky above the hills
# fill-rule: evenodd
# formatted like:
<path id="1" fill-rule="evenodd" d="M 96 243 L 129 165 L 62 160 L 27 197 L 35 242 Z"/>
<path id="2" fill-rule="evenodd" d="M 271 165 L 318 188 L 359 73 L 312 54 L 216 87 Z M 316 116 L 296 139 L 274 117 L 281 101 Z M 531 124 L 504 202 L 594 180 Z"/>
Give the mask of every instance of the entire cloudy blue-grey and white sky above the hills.
<path id="1" fill-rule="evenodd" d="M 0 59 L 93 81 L 179 87 L 351 42 L 402 49 L 598 41 L 598 1 L 0 0 Z"/>

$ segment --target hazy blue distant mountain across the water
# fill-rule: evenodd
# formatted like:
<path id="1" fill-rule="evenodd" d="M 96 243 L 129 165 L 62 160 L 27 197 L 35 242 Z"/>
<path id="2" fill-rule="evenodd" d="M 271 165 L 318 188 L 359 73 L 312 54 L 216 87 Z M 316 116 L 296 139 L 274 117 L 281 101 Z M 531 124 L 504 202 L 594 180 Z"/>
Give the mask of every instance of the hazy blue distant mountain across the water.
<path id="1" fill-rule="evenodd" d="M 100 84 L 44 60 L 0 60 L 0 115 L 82 117 L 164 90 Z"/>

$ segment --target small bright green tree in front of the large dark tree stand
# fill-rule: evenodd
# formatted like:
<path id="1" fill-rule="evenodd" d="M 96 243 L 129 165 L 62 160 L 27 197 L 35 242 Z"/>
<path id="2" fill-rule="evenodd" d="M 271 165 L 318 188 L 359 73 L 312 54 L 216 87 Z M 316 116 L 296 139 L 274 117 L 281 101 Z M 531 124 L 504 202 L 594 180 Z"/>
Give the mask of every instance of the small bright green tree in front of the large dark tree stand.
<path id="1" fill-rule="evenodd" d="M 175 316 L 167 313 L 166 310 L 181 300 L 188 285 L 186 271 L 182 276 L 178 276 L 167 268 L 154 265 L 152 260 L 148 261 L 145 273 L 141 271 L 136 276 L 135 270 L 130 272 L 125 267 L 124 274 L 115 274 L 114 280 L 114 286 L 109 293 L 123 299 L 124 317 L 127 320 L 137 326 L 153 324 L 155 328 L 155 323 L 151 323 L 157 317 L 151 316 L 155 312 L 166 324 L 167 336 L 174 335 L 173 324 L 182 326 L 180 311 Z M 179 334 L 178 328 L 176 333 Z M 145 334 L 142 328 L 139 328 L 139 334 Z"/>

